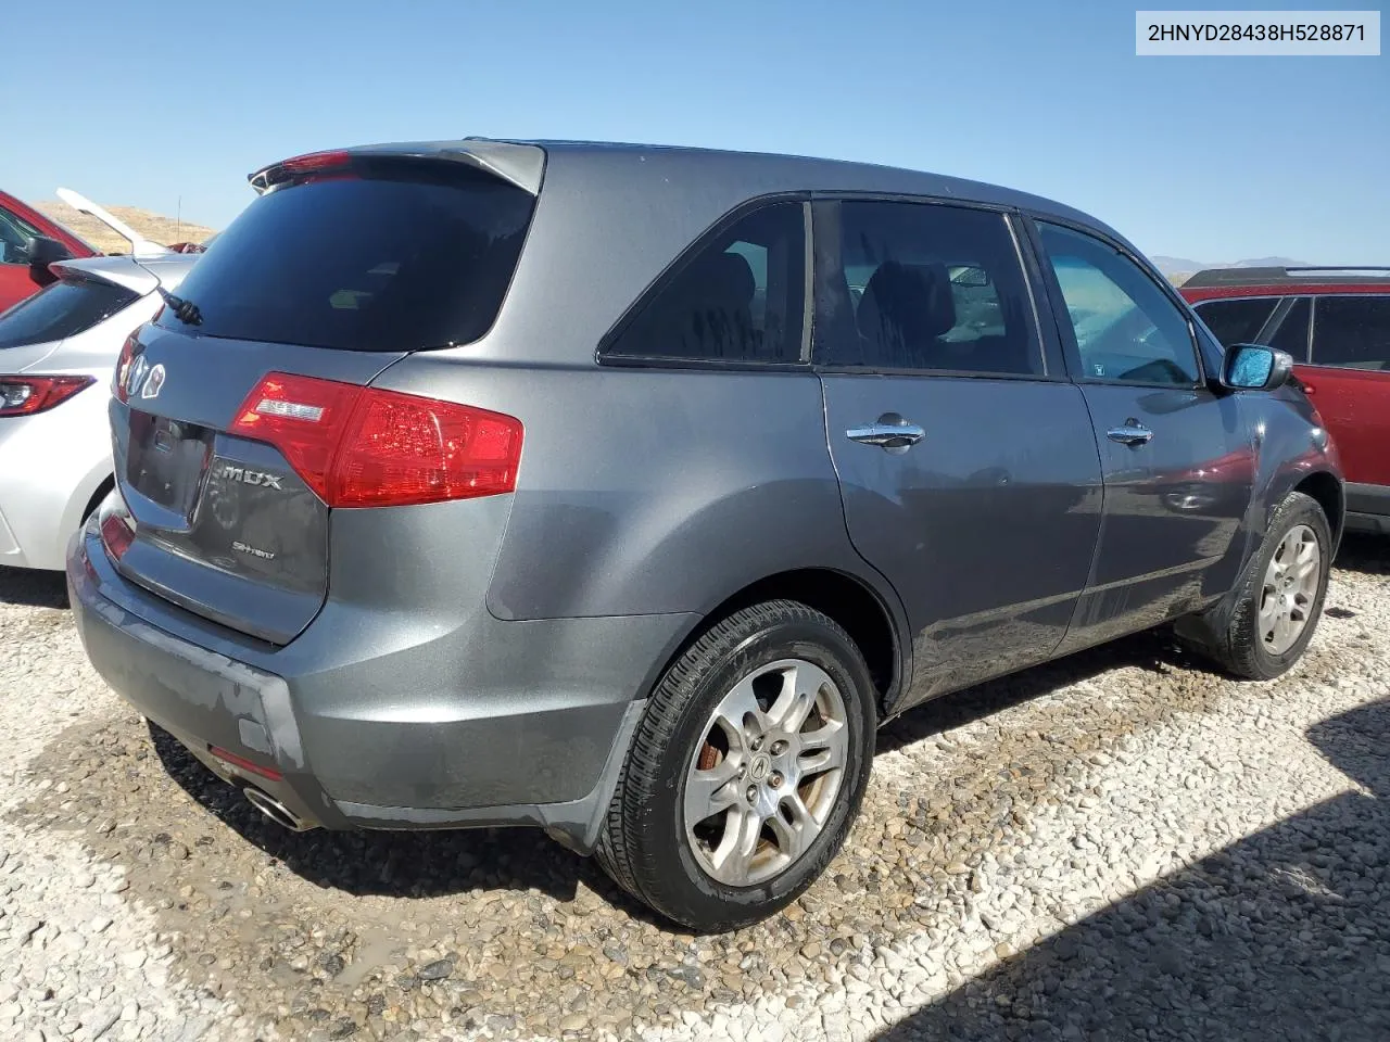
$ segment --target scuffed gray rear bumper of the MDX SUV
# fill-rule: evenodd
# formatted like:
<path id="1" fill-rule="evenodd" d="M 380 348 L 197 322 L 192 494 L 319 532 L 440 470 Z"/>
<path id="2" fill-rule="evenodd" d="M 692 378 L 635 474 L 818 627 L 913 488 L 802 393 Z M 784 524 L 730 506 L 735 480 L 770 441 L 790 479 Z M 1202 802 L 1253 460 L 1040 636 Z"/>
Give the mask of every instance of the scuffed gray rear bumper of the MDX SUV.
<path id="1" fill-rule="evenodd" d="M 291 645 L 239 638 L 122 578 L 95 525 L 68 590 L 101 677 L 214 772 L 328 828 L 539 825 L 594 847 L 655 674 L 688 615 L 503 622 L 485 610 L 361 657 L 332 600 Z M 354 632 L 354 629 L 357 632 Z M 466 656 L 441 684 L 450 649 Z M 480 650 L 485 649 L 485 650 Z M 217 746 L 278 774 L 220 760 Z"/>

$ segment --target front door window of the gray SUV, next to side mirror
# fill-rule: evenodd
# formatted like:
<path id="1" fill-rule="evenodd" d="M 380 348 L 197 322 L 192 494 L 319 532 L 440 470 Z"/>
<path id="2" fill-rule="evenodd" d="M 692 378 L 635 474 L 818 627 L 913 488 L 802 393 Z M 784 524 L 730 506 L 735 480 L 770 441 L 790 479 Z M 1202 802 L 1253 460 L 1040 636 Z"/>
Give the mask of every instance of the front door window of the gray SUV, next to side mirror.
<path id="1" fill-rule="evenodd" d="M 1081 375 L 1123 383 L 1194 386 L 1187 315 L 1119 250 L 1070 228 L 1040 224 L 1076 333 Z"/>

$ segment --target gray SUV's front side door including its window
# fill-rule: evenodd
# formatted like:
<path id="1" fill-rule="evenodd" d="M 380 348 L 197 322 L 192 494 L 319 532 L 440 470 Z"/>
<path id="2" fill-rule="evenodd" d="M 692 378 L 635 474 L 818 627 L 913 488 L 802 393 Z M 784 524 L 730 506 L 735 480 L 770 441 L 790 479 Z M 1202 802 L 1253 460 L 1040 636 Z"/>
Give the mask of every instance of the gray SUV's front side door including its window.
<path id="1" fill-rule="evenodd" d="M 1101 539 L 1063 650 L 1200 607 L 1236 581 L 1254 442 L 1205 378 L 1187 311 L 1120 247 L 1038 222 L 1054 311 L 1101 446 Z"/>

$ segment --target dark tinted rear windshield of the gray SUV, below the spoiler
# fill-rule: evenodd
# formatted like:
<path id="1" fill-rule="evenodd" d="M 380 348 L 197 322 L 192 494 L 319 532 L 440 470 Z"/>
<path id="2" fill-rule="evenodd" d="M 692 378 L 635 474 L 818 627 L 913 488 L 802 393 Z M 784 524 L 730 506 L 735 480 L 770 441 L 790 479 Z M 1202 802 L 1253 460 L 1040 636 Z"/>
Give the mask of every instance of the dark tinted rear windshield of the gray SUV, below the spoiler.
<path id="1" fill-rule="evenodd" d="M 535 199 L 455 163 L 274 188 L 189 272 L 203 336 L 354 352 L 468 343 L 502 307 Z M 165 311 L 160 325 L 181 328 Z"/>

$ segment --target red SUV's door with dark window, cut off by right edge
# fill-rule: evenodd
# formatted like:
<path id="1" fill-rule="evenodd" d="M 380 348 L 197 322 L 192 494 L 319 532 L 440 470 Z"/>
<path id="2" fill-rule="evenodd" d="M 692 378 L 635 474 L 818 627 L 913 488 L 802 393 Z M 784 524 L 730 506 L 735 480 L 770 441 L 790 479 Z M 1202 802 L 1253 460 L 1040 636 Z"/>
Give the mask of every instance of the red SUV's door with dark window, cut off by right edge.
<path id="1" fill-rule="evenodd" d="M 1390 295 L 1320 296 L 1312 314 L 1300 375 L 1341 456 L 1347 508 L 1390 514 Z"/>

